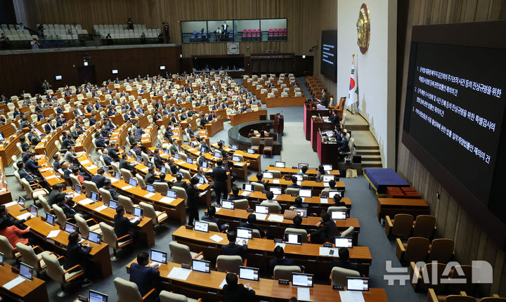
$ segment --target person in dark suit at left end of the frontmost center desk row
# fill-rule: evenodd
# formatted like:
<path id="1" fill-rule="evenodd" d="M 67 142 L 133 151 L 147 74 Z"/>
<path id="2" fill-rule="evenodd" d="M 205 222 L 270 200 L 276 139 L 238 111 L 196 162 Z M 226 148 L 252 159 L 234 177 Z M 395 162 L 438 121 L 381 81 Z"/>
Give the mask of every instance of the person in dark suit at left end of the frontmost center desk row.
<path id="1" fill-rule="evenodd" d="M 130 265 L 130 282 L 134 282 L 141 296 L 148 294 L 148 291 L 153 289 L 155 282 L 160 277 L 160 272 L 157 270 L 158 265 L 150 267 L 149 265 L 149 254 L 145 251 L 137 255 L 137 263 L 131 263 Z M 160 301 L 158 293 L 154 292 L 150 294 L 146 302 Z"/>

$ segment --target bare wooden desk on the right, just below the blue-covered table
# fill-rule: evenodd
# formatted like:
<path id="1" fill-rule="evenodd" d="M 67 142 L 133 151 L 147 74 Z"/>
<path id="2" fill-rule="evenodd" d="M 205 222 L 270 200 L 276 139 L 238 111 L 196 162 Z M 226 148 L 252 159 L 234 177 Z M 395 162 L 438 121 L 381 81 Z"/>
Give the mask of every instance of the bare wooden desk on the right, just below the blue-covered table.
<path id="1" fill-rule="evenodd" d="M 411 214 L 415 218 L 418 215 L 429 215 L 430 206 L 425 199 L 378 198 L 376 213 L 378 220 L 396 214 Z"/>

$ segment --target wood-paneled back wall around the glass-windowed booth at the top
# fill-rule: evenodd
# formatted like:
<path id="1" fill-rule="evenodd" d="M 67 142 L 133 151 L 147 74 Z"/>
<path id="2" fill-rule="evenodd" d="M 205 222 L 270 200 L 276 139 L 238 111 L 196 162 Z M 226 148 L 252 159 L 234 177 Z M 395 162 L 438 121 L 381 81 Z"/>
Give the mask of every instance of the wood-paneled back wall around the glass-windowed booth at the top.
<path id="1" fill-rule="evenodd" d="M 169 22 L 171 42 L 181 43 L 181 20 L 287 18 L 288 41 L 242 42 L 240 52 L 309 54 L 316 43 L 319 0 L 25 0 L 32 23 L 81 24 L 89 32 L 96 24 L 125 24 L 131 17 L 148 28 Z M 327 0 L 332 2 L 332 0 Z M 336 14 L 337 15 L 337 14 Z M 319 39 L 319 34 L 318 34 Z M 226 43 L 184 44 L 183 56 L 223 55 Z"/>

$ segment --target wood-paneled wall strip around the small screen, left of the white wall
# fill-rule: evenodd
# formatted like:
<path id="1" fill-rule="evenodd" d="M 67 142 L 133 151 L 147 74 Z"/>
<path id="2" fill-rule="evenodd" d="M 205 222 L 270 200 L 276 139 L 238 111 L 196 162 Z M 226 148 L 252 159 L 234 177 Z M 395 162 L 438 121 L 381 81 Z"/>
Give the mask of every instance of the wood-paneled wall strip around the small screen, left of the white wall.
<path id="1" fill-rule="evenodd" d="M 313 74 L 317 74 L 322 81 L 323 85 L 327 88 L 328 94 L 336 96 L 337 83 L 320 74 L 320 59 L 321 59 L 321 31 L 329 29 L 337 29 L 337 0 L 320 0 L 318 10 L 315 12 L 314 21 L 318 24 L 316 30 L 316 42 L 313 45 L 318 45 L 318 49 L 313 53 Z M 339 34 L 339 32 L 337 33 Z M 313 46 L 311 45 L 311 46 Z M 310 46 L 310 47 L 311 47 Z M 336 75 L 337 76 L 337 75 Z"/>

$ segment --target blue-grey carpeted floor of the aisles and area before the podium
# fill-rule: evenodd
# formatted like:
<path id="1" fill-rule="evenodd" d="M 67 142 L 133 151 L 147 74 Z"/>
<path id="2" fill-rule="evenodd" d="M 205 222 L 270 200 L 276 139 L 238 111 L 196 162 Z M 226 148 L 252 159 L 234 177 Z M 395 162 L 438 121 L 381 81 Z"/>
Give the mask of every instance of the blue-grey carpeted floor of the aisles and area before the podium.
<path id="1" fill-rule="evenodd" d="M 299 79 L 299 82 L 304 83 Z M 302 87 L 303 89 L 305 86 Z M 276 160 L 283 160 L 287 162 L 287 166 L 295 166 L 298 162 L 308 162 L 311 166 L 319 164 L 316 153 L 311 150 L 309 143 L 306 142 L 302 131 L 301 121 L 301 108 L 300 107 L 283 107 L 271 108 L 271 112 L 283 112 L 285 115 L 285 136 L 283 137 L 284 146 L 281 156 L 271 158 L 262 158 L 262 169 L 265 169 L 268 164 L 273 164 Z M 228 143 L 227 131 L 230 129 L 230 122 L 224 124 L 224 129 L 216 136 L 211 138 L 212 142 L 224 140 Z M 93 157 L 96 157 L 92 153 Z M 7 177 L 8 188 L 11 189 L 13 198 L 18 196 L 25 196 L 25 193 L 20 190 L 17 180 L 15 180 L 13 168 L 6 168 L 6 173 L 11 176 Z M 249 176 L 257 171 L 250 171 Z M 427 301 L 427 294 L 416 294 L 410 284 L 399 286 L 398 282 L 395 286 L 389 286 L 387 280 L 384 280 L 386 273 L 386 261 L 392 261 L 394 268 L 400 268 L 401 265 L 395 255 L 394 241 L 389 241 L 384 234 L 384 228 L 380 225 L 376 218 L 377 199 L 375 198 L 374 191 L 368 188 L 368 181 L 364 176 L 358 178 L 342 178 L 346 184 L 346 197 L 350 197 L 352 202 L 351 217 L 358 218 L 361 224 L 361 232 L 358 236 L 358 244 L 370 248 L 372 254 L 372 265 L 370 267 L 370 286 L 382 287 L 387 291 L 389 301 Z M 236 182 L 240 185 L 242 182 Z M 202 215 L 204 209 L 200 209 Z M 156 244 L 154 249 L 169 251 L 169 242 L 171 242 L 171 233 L 179 228 L 179 224 L 171 221 L 166 223 L 161 228 L 157 228 L 155 233 Z M 103 292 L 109 295 L 109 301 L 117 301 L 116 291 L 112 280 L 115 277 L 122 277 L 128 279 L 126 274 L 125 265 L 129 263 L 136 254 L 140 251 L 145 251 L 146 247 L 135 247 L 134 251 L 129 254 L 119 254 L 119 260 L 112 262 L 112 275 L 106 280 L 95 280 L 94 283 L 85 289 L 72 289 L 71 294 L 65 298 L 58 298 L 56 293 L 60 290 L 59 284 L 43 274 L 42 279 L 48 281 L 48 296 L 49 301 L 74 301 L 78 294 L 87 295 L 88 289 Z M 406 271 L 407 272 L 407 271 Z M 194 297 L 197 298 L 197 297 Z"/>

